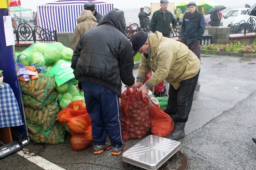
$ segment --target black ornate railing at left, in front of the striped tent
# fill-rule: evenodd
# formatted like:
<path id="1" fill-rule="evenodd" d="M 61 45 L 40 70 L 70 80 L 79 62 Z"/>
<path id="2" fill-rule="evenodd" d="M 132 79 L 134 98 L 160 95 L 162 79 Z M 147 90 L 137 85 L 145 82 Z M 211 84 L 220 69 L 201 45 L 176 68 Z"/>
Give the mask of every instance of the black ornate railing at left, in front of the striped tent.
<path id="1" fill-rule="evenodd" d="M 16 41 L 57 41 L 57 31 L 50 31 L 35 26 L 33 29 L 29 24 L 21 23 L 17 29 L 13 27 L 13 34 L 15 34 Z"/>

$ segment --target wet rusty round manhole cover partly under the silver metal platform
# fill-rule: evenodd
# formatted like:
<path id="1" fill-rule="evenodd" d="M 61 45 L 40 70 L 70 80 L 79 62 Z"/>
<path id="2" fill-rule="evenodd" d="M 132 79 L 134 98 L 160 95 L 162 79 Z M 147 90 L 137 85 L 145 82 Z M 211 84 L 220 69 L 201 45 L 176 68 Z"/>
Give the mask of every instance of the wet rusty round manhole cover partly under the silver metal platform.
<path id="1" fill-rule="evenodd" d="M 143 170 L 143 168 L 123 162 L 123 169 Z M 187 170 L 189 168 L 189 158 L 181 150 L 168 159 L 158 170 Z"/>

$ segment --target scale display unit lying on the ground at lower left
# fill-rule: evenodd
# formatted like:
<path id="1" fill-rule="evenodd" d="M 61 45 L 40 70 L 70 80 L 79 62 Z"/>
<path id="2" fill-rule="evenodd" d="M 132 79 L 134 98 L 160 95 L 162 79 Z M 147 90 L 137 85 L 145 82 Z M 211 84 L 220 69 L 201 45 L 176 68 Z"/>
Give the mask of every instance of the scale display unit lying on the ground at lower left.
<path id="1" fill-rule="evenodd" d="M 0 159 L 3 159 L 19 150 L 21 150 L 21 146 L 16 141 L 4 145 L 0 147 Z"/>

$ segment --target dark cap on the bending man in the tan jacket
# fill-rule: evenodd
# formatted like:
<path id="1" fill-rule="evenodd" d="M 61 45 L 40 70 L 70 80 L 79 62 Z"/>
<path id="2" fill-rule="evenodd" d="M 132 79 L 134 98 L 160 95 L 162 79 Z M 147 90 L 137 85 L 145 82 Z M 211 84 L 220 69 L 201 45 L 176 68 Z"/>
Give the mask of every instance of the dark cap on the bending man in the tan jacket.
<path id="1" fill-rule="evenodd" d="M 144 31 L 139 31 L 130 38 L 130 42 L 133 45 L 134 56 L 138 53 L 138 50 L 145 44 L 148 39 L 148 34 Z"/>

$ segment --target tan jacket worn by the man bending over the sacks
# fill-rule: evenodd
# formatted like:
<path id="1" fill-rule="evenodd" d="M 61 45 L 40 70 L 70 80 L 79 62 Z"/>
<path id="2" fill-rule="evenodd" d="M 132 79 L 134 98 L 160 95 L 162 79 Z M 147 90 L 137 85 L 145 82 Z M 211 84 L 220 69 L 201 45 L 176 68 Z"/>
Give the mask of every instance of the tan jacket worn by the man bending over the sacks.
<path id="1" fill-rule="evenodd" d="M 150 55 L 141 58 L 137 81 L 143 82 L 150 69 L 154 75 L 148 85 L 158 85 L 163 80 L 178 89 L 181 81 L 196 76 L 201 62 L 189 48 L 174 39 L 163 37 L 162 33 L 149 34 Z"/>

